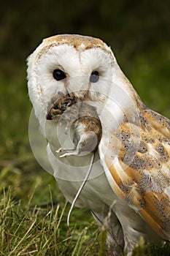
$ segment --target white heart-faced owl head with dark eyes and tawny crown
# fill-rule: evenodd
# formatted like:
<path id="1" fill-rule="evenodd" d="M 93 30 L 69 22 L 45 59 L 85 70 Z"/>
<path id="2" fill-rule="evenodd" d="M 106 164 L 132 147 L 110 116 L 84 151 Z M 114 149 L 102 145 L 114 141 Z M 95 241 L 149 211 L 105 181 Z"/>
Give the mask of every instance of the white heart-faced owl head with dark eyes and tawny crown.
<path id="1" fill-rule="evenodd" d="M 96 102 L 98 112 L 114 109 L 120 119 L 139 99 L 111 48 L 101 39 L 73 34 L 44 39 L 28 57 L 28 93 L 42 126 L 58 91 Z"/>

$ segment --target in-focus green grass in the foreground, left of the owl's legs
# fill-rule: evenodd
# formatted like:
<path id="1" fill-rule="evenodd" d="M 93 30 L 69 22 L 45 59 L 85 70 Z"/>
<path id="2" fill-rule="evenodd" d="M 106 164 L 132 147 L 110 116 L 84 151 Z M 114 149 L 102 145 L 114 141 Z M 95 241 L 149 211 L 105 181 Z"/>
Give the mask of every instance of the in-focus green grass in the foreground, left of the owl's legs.
<path id="1" fill-rule="evenodd" d="M 32 205 L 34 195 L 24 207 L 11 195 L 8 189 L 1 198 L 1 255 L 105 255 L 98 249 L 101 239 L 96 223 L 71 223 L 68 228 L 68 206 L 53 205 L 50 189 L 51 204 L 44 207 Z"/>

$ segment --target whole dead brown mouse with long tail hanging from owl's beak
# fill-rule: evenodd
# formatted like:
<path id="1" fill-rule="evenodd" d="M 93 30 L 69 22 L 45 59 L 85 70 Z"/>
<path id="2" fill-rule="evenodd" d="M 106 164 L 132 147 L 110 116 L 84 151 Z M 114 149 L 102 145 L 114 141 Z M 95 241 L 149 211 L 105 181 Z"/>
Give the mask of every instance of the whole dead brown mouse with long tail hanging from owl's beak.
<path id="1" fill-rule="evenodd" d="M 77 198 L 80 196 L 80 193 L 82 192 L 82 189 L 90 176 L 95 152 L 101 140 L 102 127 L 96 107 L 88 105 L 86 102 L 79 102 L 77 99 L 75 99 L 75 97 L 70 95 L 60 94 L 59 96 L 60 98 L 55 100 L 53 105 L 50 106 L 50 110 L 47 113 L 47 120 L 57 120 L 61 124 L 65 123 L 65 133 L 67 134 L 69 128 L 72 128 L 74 133 L 73 147 L 61 147 L 58 148 L 56 152 L 66 152 L 61 154 L 61 158 L 77 156 L 85 151 L 89 153 L 92 152 L 88 172 L 86 173 L 86 176 L 82 181 L 80 189 L 74 197 L 72 206 L 69 210 L 67 217 L 67 225 L 69 226 L 69 218 L 72 213 L 72 209 L 74 208 L 74 204 L 76 203 Z"/>

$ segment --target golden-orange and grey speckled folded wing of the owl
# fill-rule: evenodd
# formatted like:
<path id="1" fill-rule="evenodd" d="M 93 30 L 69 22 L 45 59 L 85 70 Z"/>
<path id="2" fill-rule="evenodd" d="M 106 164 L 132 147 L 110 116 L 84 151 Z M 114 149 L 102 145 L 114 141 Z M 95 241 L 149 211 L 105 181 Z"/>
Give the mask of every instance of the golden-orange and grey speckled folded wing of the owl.
<path id="1" fill-rule="evenodd" d="M 138 124 L 124 122 L 112 136 L 120 147 L 114 158 L 104 155 L 109 184 L 161 238 L 170 241 L 169 119 L 145 108 Z M 110 144 L 112 152 L 114 141 Z"/>

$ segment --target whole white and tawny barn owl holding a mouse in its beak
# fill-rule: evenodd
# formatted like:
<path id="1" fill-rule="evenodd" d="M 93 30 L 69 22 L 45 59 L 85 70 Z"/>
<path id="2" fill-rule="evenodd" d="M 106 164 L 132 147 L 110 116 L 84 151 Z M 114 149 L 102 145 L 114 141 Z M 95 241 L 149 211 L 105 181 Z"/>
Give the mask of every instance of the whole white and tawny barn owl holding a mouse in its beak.
<path id="1" fill-rule="evenodd" d="M 101 140 L 76 206 L 90 208 L 99 227 L 107 218 L 110 253 L 131 255 L 141 236 L 170 241 L 169 119 L 142 103 L 101 39 L 72 34 L 44 39 L 28 57 L 28 94 L 48 142 L 53 175 L 70 203 L 93 152 L 65 158 L 56 153 L 72 144 L 72 129 L 66 134 L 46 118 L 58 91 L 94 106 L 101 121 Z"/>

